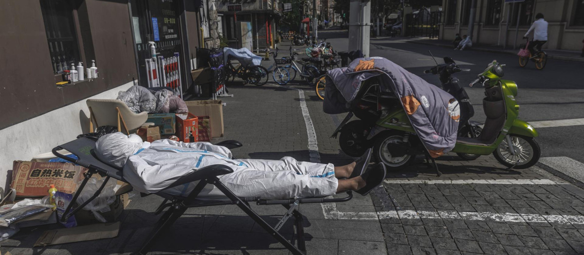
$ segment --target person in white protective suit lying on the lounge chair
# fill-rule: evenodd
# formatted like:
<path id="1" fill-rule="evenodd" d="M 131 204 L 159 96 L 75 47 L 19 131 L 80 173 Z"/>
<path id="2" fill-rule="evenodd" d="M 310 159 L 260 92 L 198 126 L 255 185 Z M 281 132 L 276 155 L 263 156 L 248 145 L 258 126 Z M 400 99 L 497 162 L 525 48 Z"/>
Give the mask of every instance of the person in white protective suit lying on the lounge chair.
<path id="1" fill-rule="evenodd" d="M 231 151 L 211 143 L 183 143 L 157 140 L 152 143 L 123 133 L 106 134 L 96 143 L 96 155 L 104 162 L 123 167 L 123 176 L 135 190 L 156 193 L 170 186 L 181 176 L 208 165 L 222 164 L 233 173 L 218 176 L 222 183 L 239 197 L 290 199 L 324 197 L 347 190 L 367 194 L 385 178 L 383 167 L 367 169 L 371 151 L 359 160 L 342 167 L 281 160 L 233 160 Z M 346 179 L 339 179 L 346 178 Z M 172 187 L 165 192 L 186 196 L 198 182 Z M 203 197 L 223 197 L 213 185 L 200 193 Z"/>

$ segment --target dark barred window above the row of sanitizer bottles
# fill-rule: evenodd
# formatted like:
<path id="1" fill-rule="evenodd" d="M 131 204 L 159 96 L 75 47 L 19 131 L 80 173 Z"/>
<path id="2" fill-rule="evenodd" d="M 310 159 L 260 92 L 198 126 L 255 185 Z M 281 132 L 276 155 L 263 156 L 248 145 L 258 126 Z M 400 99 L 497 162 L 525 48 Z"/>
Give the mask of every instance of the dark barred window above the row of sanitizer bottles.
<path id="1" fill-rule="evenodd" d="M 62 73 L 71 68 L 71 63 L 81 61 L 72 3 L 69 0 L 41 0 L 40 6 L 53 72 Z"/>

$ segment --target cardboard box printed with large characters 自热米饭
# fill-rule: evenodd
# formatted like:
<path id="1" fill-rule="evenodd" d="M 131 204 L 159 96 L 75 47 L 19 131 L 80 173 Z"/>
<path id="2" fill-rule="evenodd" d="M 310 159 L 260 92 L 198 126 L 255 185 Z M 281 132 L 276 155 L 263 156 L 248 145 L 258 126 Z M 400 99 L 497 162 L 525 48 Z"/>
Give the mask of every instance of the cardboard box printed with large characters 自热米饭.
<path id="1" fill-rule="evenodd" d="M 17 197 L 44 197 L 51 184 L 57 190 L 74 193 L 87 168 L 62 162 L 14 161 L 11 187 Z"/>

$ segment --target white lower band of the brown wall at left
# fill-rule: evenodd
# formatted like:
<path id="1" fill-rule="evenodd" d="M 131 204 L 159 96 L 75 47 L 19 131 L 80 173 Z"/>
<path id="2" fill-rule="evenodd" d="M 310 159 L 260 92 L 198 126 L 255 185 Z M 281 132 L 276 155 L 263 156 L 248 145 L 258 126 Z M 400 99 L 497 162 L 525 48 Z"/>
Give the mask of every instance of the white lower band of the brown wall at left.
<path id="1" fill-rule="evenodd" d="M 133 86 L 133 82 L 107 90 L 90 98 L 115 99 L 119 91 Z M 0 187 L 9 183 L 8 171 L 15 160 L 31 160 L 41 153 L 89 132 L 89 109 L 86 99 L 55 109 L 41 116 L 0 130 Z M 5 186 L 6 183 L 6 186 Z"/>

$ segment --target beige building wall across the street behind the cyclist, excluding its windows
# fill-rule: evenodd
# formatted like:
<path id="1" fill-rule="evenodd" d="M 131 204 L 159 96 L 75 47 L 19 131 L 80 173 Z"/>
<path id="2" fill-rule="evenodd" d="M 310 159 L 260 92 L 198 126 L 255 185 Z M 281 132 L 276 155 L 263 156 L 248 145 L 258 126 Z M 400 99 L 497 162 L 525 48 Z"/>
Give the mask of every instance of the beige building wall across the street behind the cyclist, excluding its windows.
<path id="1" fill-rule="evenodd" d="M 486 19 L 486 3 L 489 0 L 477 0 L 477 20 L 475 34 L 472 39 L 474 43 L 486 45 L 506 45 L 513 47 L 524 42 L 523 36 L 529 29 L 529 25 L 509 26 L 507 30 L 507 8 L 512 8 L 512 3 L 503 3 L 501 11 L 501 22 L 499 26 L 483 26 Z M 573 8 L 578 0 L 536 0 L 533 13 L 543 13 L 548 22 L 548 42 L 544 44 L 544 49 L 568 49 L 580 51 L 582 49 L 582 39 L 584 39 L 584 26 L 571 26 Z M 461 2 L 457 6 L 457 22 L 455 25 L 444 25 L 440 28 L 440 38 L 443 40 L 453 40 L 456 33 L 466 34 L 467 27 L 460 27 Z M 443 1 L 443 6 L 447 6 L 447 0 Z M 446 8 L 450 8 L 447 6 Z M 445 10 L 446 12 L 446 10 Z M 446 17 L 446 15 L 443 15 Z M 533 22 L 533 21 L 532 21 Z"/>

